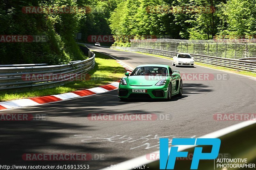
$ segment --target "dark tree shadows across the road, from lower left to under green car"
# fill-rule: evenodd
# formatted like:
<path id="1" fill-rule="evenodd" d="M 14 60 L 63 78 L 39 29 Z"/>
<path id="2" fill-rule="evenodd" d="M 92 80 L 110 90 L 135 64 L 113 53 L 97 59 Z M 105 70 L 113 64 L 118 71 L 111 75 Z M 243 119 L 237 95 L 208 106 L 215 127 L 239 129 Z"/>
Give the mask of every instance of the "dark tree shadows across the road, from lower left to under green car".
<path id="1" fill-rule="evenodd" d="M 181 97 L 173 96 L 171 101 L 184 100 L 189 97 L 191 92 L 203 93 L 211 92 L 211 86 L 204 84 L 183 84 L 184 95 Z M 119 102 L 117 91 L 102 93 L 86 98 L 67 100 L 52 104 L 40 105 L 36 107 L 27 107 L 15 110 L 8 110 L 4 113 L 30 113 L 46 114 L 46 120 L 43 121 L 0 121 L 1 134 L 1 157 L 0 162 L 5 165 L 80 165 L 81 161 L 24 161 L 24 153 L 97 153 L 109 154 L 111 157 L 100 161 L 89 161 L 88 164 L 96 169 L 109 166 L 112 163 L 118 163 L 126 160 L 124 157 L 115 157 L 118 152 L 114 148 L 104 144 L 83 144 L 70 136 L 74 134 L 92 134 L 102 127 L 88 126 L 86 124 L 87 116 L 92 113 L 122 113 L 120 106 L 130 105 L 133 102 L 141 102 L 146 105 L 148 102 L 163 102 L 163 100 L 152 101 L 132 101 Z M 161 104 L 161 103 L 159 103 Z M 140 106 L 141 106 L 140 105 Z M 132 105 L 130 105 L 132 106 Z M 110 109 L 111 108 L 111 109 Z M 139 107 L 131 107 L 124 111 L 125 113 L 138 114 Z M 163 113 L 163 110 L 154 111 L 155 114 Z M 141 110 L 139 114 L 148 114 L 148 111 Z M 68 118 L 68 121 L 67 121 Z M 81 121 L 84 119 L 84 122 Z M 77 123 L 80 122 L 80 123 Z M 82 123 L 81 123 L 82 122 Z M 83 162 L 82 164 L 86 164 Z"/>

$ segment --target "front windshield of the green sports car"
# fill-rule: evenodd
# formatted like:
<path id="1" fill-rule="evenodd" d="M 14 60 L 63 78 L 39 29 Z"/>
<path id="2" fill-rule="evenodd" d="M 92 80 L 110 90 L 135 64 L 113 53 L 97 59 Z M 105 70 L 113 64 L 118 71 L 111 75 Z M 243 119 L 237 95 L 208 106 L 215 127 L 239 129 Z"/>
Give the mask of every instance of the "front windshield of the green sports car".
<path id="1" fill-rule="evenodd" d="M 167 68 L 156 66 L 137 67 L 130 76 L 168 76 Z"/>

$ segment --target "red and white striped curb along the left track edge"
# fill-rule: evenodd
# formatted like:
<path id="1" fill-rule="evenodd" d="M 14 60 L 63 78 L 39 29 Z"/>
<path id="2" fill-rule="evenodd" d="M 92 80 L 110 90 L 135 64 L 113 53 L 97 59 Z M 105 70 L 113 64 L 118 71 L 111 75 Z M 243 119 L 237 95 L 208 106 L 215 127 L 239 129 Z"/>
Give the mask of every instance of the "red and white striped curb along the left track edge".
<path id="1" fill-rule="evenodd" d="M 113 57 L 114 58 L 114 57 Z M 122 65 L 125 70 L 129 73 L 132 72 L 132 68 L 125 63 L 117 60 L 117 63 Z M 30 107 L 30 106 L 37 106 L 46 103 L 54 103 L 64 100 L 71 100 L 80 97 L 91 96 L 99 93 L 109 92 L 112 90 L 118 89 L 119 81 L 110 83 L 108 85 L 102 85 L 100 87 L 94 87 L 91 89 L 86 90 L 77 90 L 75 92 L 68 92 L 64 94 L 57 94 L 51 96 L 43 96 L 43 97 L 33 97 L 29 99 L 19 99 L 19 100 L 12 100 L 12 101 L 4 101 L 0 102 L 0 111 L 8 110 L 8 109 L 16 109 L 20 107 Z"/>

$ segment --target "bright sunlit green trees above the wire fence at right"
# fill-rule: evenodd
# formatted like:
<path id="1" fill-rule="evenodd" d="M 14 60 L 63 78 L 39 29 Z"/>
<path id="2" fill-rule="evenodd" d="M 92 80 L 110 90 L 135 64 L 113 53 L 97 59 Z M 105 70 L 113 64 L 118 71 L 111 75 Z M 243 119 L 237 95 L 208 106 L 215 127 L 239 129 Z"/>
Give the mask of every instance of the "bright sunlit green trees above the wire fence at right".
<path id="1" fill-rule="evenodd" d="M 255 0 L 127 0 L 111 13 L 109 26 L 116 35 L 169 35 L 173 39 L 194 40 L 218 35 L 243 38 L 255 35 L 255 4 Z M 151 11 L 147 11 L 148 7 Z M 129 46 L 127 42 L 115 44 Z"/>

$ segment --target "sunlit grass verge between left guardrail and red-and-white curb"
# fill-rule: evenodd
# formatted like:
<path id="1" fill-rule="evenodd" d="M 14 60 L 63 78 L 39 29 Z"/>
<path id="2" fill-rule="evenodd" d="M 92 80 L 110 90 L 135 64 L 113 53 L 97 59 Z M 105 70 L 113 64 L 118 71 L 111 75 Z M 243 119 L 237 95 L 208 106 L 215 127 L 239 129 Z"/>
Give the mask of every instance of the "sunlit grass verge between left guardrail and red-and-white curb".
<path id="1" fill-rule="evenodd" d="M 24 99 L 31 97 L 40 97 L 54 94 L 62 94 L 67 92 L 73 92 L 76 90 L 83 90 L 93 87 L 98 87 L 100 85 L 106 85 L 111 82 L 120 80 L 124 77 L 125 69 L 117 63 L 117 61 L 108 55 L 94 52 L 96 54 L 95 58 L 95 67 L 88 74 L 90 75 L 89 80 L 85 81 L 73 81 L 62 86 L 35 90 L 28 92 L 9 92 L 9 93 L 0 93 L 0 101 L 9 101 L 16 99 Z"/>

